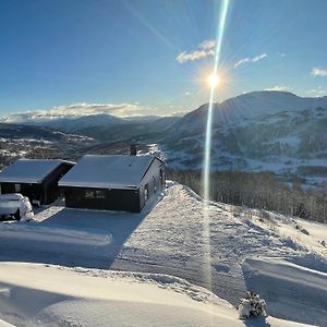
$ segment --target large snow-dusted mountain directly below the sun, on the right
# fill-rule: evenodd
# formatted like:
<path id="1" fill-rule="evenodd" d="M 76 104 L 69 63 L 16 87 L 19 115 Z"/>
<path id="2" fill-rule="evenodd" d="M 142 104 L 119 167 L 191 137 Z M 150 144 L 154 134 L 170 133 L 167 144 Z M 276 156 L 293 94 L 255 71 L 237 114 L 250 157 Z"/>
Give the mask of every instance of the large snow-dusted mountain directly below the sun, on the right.
<path id="1" fill-rule="evenodd" d="M 187 113 L 159 144 L 168 162 L 201 169 L 207 105 Z M 274 171 L 327 184 L 327 97 L 255 92 L 214 106 L 214 170 Z"/>

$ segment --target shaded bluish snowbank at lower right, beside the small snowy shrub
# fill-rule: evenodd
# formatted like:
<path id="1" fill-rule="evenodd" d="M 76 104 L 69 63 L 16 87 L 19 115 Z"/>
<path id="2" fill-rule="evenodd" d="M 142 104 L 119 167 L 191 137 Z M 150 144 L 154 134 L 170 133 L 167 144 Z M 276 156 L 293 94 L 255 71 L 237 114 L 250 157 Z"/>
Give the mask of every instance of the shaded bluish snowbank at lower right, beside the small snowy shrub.
<path id="1" fill-rule="evenodd" d="M 247 258 L 246 286 L 267 302 L 274 316 L 326 325 L 327 274 L 281 258 Z"/>

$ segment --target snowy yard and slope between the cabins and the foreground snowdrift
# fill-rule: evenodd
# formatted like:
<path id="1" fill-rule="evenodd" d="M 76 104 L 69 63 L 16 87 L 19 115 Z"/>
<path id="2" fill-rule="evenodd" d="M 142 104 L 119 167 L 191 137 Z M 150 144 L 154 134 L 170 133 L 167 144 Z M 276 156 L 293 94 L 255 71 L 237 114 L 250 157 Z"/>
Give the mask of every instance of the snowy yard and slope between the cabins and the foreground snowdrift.
<path id="1" fill-rule="evenodd" d="M 327 226 L 219 203 L 206 213 L 177 183 L 141 214 L 51 206 L 34 222 L 0 225 L 0 259 L 171 275 L 234 306 L 249 288 L 275 317 L 326 325 Z"/>

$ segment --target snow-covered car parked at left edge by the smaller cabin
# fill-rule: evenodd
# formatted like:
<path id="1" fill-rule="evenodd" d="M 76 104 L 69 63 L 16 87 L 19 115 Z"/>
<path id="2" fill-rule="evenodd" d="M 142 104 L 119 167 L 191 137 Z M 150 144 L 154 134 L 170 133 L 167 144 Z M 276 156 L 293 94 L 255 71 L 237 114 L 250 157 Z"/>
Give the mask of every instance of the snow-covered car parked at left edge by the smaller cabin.
<path id="1" fill-rule="evenodd" d="M 20 193 L 0 194 L 0 217 L 31 220 L 34 217 L 28 197 Z"/>

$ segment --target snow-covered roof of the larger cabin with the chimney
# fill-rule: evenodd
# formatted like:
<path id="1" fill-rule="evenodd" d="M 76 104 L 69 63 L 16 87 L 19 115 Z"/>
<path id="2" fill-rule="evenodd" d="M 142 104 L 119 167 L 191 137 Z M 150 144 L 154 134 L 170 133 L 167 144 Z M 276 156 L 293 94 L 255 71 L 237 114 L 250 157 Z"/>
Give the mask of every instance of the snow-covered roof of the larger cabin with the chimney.
<path id="1" fill-rule="evenodd" d="M 60 181 L 60 186 L 137 189 L 156 157 L 84 156 Z"/>

